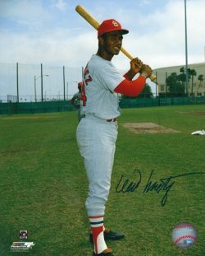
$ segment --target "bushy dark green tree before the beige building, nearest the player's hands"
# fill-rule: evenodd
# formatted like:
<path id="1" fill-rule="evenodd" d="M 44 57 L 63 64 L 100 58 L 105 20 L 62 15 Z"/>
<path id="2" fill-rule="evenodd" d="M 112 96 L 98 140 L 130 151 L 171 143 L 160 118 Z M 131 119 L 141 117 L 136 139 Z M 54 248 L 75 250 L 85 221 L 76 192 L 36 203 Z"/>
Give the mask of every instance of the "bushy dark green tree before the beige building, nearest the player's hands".
<path id="1" fill-rule="evenodd" d="M 169 88 L 169 92 L 171 95 L 185 95 L 185 84 L 183 85 L 180 82 L 179 76 L 176 74 L 176 72 L 172 72 L 171 75 L 166 78 L 166 85 Z"/>

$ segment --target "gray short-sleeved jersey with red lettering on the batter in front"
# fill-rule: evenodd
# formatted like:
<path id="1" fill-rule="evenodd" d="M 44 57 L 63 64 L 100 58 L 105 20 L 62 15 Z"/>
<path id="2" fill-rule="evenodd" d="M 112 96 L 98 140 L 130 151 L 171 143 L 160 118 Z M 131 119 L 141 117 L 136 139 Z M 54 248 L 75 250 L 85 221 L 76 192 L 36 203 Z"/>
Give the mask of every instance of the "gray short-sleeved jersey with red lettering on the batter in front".
<path id="1" fill-rule="evenodd" d="M 110 61 L 93 55 L 84 69 L 86 104 L 81 114 L 93 114 L 100 119 L 115 119 L 121 114 L 119 97 L 114 92 L 125 77 Z"/>

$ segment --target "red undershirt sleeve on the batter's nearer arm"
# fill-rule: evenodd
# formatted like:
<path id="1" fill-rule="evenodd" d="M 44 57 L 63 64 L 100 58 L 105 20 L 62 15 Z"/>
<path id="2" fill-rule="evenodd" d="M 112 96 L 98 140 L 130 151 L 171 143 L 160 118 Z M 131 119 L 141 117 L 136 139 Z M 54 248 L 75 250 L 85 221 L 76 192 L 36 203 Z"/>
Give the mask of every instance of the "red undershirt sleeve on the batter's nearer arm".
<path id="1" fill-rule="evenodd" d="M 134 81 L 129 81 L 125 79 L 121 81 L 118 86 L 116 86 L 114 91 L 123 95 L 136 97 L 141 91 L 143 91 L 145 82 L 146 78 L 143 76 L 139 76 Z"/>

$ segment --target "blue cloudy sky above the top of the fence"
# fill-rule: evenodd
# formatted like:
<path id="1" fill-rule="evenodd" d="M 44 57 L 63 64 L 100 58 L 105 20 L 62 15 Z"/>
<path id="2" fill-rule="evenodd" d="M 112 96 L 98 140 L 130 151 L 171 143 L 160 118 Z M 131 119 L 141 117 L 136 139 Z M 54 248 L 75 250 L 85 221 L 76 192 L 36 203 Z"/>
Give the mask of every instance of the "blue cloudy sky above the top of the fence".
<path id="1" fill-rule="evenodd" d="M 0 0 L 0 62 L 85 66 L 98 49 L 97 32 L 77 4 L 100 22 L 120 21 L 130 30 L 125 49 L 151 67 L 185 63 L 184 0 Z M 187 0 L 189 63 L 204 62 L 204 13 L 204 0 Z M 113 63 L 130 67 L 123 54 Z"/>

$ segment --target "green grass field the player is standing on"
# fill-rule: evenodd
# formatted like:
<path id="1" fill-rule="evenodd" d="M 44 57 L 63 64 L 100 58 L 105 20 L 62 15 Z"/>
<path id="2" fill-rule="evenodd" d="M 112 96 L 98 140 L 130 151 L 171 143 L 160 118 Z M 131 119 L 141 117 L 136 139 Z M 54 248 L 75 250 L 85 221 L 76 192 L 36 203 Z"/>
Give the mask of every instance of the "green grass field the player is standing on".
<path id="1" fill-rule="evenodd" d="M 135 134 L 123 123 L 153 122 L 180 133 Z M 119 119 L 112 189 L 105 226 L 125 233 L 109 241 L 115 256 L 204 256 L 205 175 L 175 178 L 166 191 L 144 193 L 152 182 L 170 176 L 205 172 L 205 105 L 123 109 Z M 75 112 L 0 117 L 0 255 L 11 253 L 19 230 L 28 230 L 34 247 L 29 255 L 92 255 L 89 221 L 84 201 L 88 182 L 75 139 Z M 133 193 L 116 193 L 121 179 L 137 183 Z M 192 223 L 198 242 L 189 249 L 172 244 L 171 230 L 180 222 Z"/>

